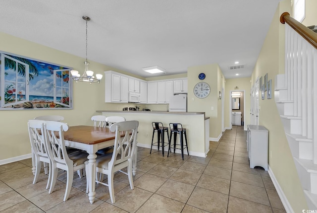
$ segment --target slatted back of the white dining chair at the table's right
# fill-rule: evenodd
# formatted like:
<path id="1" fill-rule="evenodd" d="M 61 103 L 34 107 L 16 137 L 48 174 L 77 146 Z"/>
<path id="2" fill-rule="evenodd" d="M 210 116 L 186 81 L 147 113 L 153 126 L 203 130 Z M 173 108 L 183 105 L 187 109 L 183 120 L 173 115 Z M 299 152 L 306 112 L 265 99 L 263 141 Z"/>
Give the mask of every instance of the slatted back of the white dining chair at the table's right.
<path id="1" fill-rule="evenodd" d="M 110 131 L 115 131 L 115 142 L 109 166 L 113 167 L 132 159 L 137 143 L 138 126 L 138 121 L 118 122 L 110 126 Z M 121 137 L 122 132 L 124 137 Z"/>

